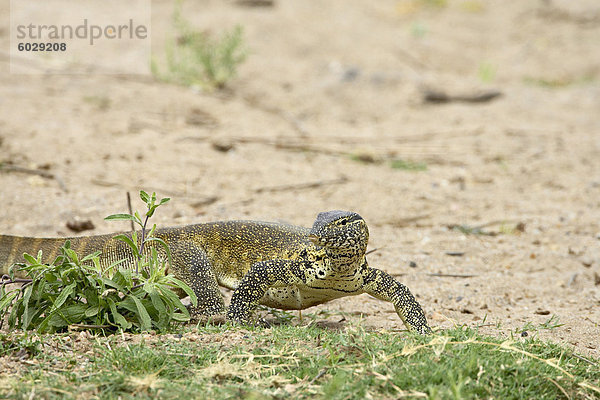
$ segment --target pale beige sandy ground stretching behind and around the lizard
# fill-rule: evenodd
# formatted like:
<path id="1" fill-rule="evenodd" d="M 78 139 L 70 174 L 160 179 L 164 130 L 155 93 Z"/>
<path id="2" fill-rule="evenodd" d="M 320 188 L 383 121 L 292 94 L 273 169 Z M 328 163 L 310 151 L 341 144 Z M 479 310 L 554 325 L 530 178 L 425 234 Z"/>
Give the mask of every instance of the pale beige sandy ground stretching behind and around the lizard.
<path id="1" fill-rule="evenodd" d="M 139 189 L 172 198 L 161 226 L 310 226 L 320 211 L 353 210 L 378 249 L 370 263 L 411 288 L 433 327 L 509 335 L 556 315 L 564 325 L 541 336 L 600 356 L 600 6 L 373 3 L 188 0 L 199 30 L 244 28 L 247 61 L 216 93 L 139 76 L 10 75 L 2 53 L 0 162 L 64 187 L 0 172 L 0 231 L 73 235 L 75 218 L 96 227 L 81 234 L 127 229 L 103 217 Z M 153 2 L 158 56 L 172 11 Z M 433 104 L 426 88 L 502 95 Z M 451 228 L 484 224 L 498 234 Z M 402 328 L 366 295 L 321 308 Z"/>

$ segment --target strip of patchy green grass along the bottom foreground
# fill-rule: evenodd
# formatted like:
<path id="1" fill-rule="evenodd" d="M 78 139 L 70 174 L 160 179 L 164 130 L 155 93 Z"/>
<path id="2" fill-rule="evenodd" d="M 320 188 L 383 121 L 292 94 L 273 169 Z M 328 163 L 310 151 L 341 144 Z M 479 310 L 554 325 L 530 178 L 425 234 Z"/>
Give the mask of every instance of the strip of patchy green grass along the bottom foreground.
<path id="1" fill-rule="evenodd" d="M 0 398 L 32 393 L 49 399 L 177 399 L 200 393 L 216 399 L 600 396 L 598 360 L 517 336 L 504 340 L 457 327 L 421 337 L 311 323 L 86 339 L 77 333 L 21 337 L 16 343 L 38 350 L 3 353 L 0 365 L 7 367 L 0 374 Z M 0 349 L 1 343 L 0 337 Z M 19 370 L 7 370 L 11 364 L 5 361 L 23 354 Z"/>

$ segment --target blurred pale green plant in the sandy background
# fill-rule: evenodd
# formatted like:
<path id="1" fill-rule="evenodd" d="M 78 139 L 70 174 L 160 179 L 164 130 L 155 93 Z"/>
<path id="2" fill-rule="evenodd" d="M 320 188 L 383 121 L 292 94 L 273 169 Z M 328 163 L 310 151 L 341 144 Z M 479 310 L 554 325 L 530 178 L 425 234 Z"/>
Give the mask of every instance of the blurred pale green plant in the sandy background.
<path id="1" fill-rule="evenodd" d="M 155 61 L 151 68 L 161 80 L 204 89 L 222 89 L 236 76 L 245 58 L 242 27 L 235 26 L 220 38 L 195 30 L 182 16 L 181 1 L 176 3 L 173 23 L 177 38 L 167 43 L 167 72 L 161 73 Z"/>

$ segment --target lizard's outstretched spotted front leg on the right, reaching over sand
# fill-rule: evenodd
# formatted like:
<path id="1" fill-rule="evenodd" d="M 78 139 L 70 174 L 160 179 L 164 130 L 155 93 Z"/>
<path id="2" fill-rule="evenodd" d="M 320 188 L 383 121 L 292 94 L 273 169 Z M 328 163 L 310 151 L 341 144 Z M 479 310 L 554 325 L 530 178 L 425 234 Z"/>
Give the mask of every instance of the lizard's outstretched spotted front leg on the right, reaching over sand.
<path id="1" fill-rule="evenodd" d="M 363 290 L 373 297 L 394 304 L 396 313 L 409 330 L 422 335 L 432 332 L 427 325 L 423 309 L 410 290 L 389 274 L 376 268 L 369 268 L 365 273 Z"/>

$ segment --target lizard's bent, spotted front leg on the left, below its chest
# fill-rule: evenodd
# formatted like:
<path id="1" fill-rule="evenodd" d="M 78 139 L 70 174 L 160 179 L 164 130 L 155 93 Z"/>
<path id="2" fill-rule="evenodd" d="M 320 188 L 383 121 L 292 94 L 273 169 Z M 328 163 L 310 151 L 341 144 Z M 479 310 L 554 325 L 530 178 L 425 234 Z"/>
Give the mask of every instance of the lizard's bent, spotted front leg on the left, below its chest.
<path id="1" fill-rule="evenodd" d="M 305 282 L 307 264 L 305 261 L 268 260 L 252 265 L 233 292 L 227 319 L 248 322 L 252 311 L 269 288 Z"/>

